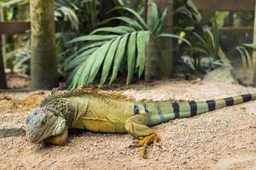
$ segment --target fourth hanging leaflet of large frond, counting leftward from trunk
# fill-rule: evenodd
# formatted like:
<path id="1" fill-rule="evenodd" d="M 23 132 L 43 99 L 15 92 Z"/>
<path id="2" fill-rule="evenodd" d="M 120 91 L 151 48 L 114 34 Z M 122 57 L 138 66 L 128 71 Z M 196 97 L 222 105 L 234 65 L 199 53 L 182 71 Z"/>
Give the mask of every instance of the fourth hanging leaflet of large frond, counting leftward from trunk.
<path id="1" fill-rule="evenodd" d="M 110 48 L 108 49 L 108 54 L 105 57 L 104 65 L 103 65 L 103 69 L 102 69 L 102 78 L 101 78 L 101 82 L 100 82 L 101 86 L 107 80 L 108 73 L 109 73 L 110 67 L 113 62 L 114 54 L 116 53 L 116 50 L 118 48 L 120 38 L 121 37 L 118 37 L 116 40 L 114 40 L 113 43 L 111 44 Z"/>

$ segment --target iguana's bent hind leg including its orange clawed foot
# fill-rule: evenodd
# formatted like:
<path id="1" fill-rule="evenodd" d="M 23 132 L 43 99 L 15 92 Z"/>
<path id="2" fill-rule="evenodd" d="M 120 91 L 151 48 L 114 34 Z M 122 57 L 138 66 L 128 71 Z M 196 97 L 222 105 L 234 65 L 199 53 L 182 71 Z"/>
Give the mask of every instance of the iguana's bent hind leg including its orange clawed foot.
<path id="1" fill-rule="evenodd" d="M 136 115 L 131 116 L 125 122 L 125 129 L 127 133 L 131 133 L 136 140 L 133 141 L 134 147 L 142 147 L 141 155 L 146 158 L 146 152 L 148 144 L 154 143 L 159 145 L 160 138 L 154 129 L 147 126 L 147 116 L 146 115 Z"/>

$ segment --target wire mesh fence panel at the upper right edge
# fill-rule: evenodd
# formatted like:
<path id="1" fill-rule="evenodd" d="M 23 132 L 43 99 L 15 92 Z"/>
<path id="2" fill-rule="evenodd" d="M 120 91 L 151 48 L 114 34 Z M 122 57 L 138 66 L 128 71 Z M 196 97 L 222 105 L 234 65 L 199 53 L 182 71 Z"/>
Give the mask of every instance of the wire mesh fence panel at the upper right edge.
<path id="1" fill-rule="evenodd" d="M 244 0 L 237 3 L 236 0 L 225 0 L 221 10 L 215 14 L 220 31 L 221 48 L 230 59 L 231 65 L 234 67 L 236 77 L 244 83 L 252 83 L 252 65 L 251 58 L 252 49 L 242 47 L 243 44 L 253 43 L 253 24 L 255 0 Z M 241 48 L 242 47 L 242 48 Z M 239 50 L 246 49 L 245 50 Z M 244 61 L 241 54 L 246 57 Z"/>

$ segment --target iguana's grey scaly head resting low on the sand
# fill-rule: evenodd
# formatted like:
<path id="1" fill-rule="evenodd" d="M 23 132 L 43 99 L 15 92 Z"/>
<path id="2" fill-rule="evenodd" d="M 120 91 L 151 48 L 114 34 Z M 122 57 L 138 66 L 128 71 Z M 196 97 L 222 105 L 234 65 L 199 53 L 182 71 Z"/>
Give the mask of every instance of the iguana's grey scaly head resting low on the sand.
<path id="1" fill-rule="evenodd" d="M 26 139 L 32 143 L 40 143 L 49 137 L 64 133 L 66 120 L 45 108 L 31 111 L 26 118 Z"/>

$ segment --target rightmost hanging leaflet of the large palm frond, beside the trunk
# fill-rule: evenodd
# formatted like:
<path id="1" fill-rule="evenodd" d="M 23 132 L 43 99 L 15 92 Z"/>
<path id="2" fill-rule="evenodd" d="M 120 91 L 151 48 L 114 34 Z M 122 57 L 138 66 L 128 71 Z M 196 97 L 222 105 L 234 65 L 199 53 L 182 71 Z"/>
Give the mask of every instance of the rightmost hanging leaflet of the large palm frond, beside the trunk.
<path id="1" fill-rule="evenodd" d="M 139 31 L 137 33 L 137 68 L 139 68 L 138 76 L 141 77 L 145 68 L 146 48 L 148 44 L 150 32 Z"/>

